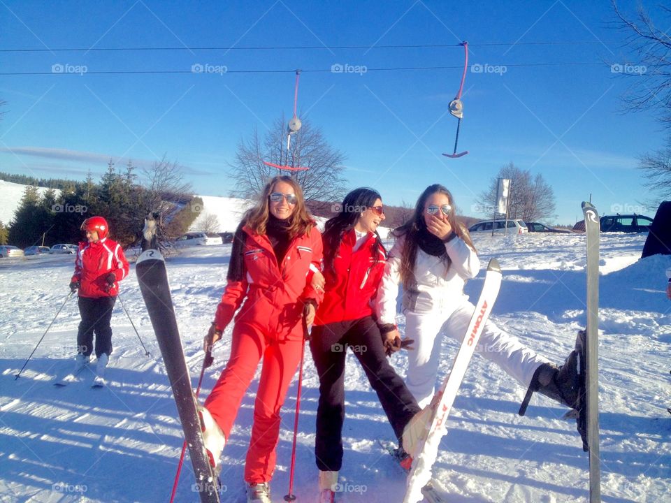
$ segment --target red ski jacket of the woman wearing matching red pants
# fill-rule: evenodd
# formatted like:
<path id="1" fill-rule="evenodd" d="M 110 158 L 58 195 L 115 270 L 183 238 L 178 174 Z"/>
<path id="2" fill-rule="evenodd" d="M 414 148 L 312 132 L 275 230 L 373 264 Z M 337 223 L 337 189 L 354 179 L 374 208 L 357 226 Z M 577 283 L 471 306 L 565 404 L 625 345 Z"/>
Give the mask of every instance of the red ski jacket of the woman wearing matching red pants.
<path id="1" fill-rule="evenodd" d="M 215 326 L 224 330 L 238 307 L 236 323 L 250 323 L 277 340 L 303 338 L 303 302 L 322 299 L 310 286 L 312 270 L 322 267 L 322 235 L 317 228 L 294 238 L 281 264 L 266 235 L 257 235 L 247 226 L 243 251 L 245 279 L 229 281 L 222 296 Z"/>

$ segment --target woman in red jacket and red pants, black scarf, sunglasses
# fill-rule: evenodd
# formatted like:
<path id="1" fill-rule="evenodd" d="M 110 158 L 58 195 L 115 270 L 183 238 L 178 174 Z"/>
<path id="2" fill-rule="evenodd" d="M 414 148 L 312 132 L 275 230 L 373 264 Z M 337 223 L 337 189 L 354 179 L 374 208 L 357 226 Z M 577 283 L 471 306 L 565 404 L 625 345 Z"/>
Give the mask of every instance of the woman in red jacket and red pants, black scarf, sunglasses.
<path id="1" fill-rule="evenodd" d="M 280 409 L 301 360 L 303 323 L 312 324 L 322 298 L 311 285 L 321 263 L 322 236 L 301 187 L 291 177 L 274 177 L 238 226 L 226 289 L 205 337 L 207 349 L 208 339 L 219 340 L 240 308 L 231 356 L 200 409 L 205 448 L 215 469 L 240 402 L 263 360 L 245 460 L 248 502 L 270 503 Z"/>

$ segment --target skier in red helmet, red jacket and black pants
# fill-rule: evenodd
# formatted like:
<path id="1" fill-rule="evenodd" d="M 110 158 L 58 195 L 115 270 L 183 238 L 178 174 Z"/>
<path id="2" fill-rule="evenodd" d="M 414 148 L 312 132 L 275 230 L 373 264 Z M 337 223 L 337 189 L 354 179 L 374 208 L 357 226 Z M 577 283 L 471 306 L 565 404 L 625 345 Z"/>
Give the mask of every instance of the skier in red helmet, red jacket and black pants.
<path id="1" fill-rule="evenodd" d="M 89 363 L 96 335 L 96 372 L 102 375 L 112 353 L 112 309 L 119 285 L 128 276 L 128 261 L 119 243 L 108 238 L 110 228 L 103 217 L 87 218 L 82 224 L 87 242 L 79 243 L 75 274 L 70 289 L 79 291 L 79 314 L 75 372 Z"/>

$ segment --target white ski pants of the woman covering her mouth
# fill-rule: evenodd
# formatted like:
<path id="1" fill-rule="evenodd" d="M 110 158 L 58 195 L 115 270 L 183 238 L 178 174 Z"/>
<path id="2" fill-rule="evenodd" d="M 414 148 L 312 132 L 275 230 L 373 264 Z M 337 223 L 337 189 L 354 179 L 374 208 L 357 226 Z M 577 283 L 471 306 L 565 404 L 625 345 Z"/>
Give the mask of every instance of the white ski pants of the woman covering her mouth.
<path id="1" fill-rule="evenodd" d="M 405 337 L 414 340 L 414 350 L 407 352 L 405 384 L 419 407 L 426 407 L 435 392 L 442 337 L 447 335 L 461 342 L 474 311 L 475 306 L 463 300 L 456 309 L 432 309 L 424 313 L 408 309 L 405 312 Z M 525 347 L 517 337 L 500 330 L 492 321 L 485 324 L 475 353 L 496 363 L 525 389 L 531 384 L 535 370 L 549 361 Z"/>

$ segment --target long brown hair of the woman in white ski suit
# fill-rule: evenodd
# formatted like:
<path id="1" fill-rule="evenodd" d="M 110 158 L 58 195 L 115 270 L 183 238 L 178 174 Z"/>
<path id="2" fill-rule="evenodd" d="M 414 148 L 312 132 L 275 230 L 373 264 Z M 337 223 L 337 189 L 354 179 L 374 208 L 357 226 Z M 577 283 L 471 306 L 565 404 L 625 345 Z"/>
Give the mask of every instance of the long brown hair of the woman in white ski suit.
<path id="1" fill-rule="evenodd" d="M 401 251 L 401 280 L 403 281 L 403 287 L 409 289 L 414 281 L 414 263 L 417 261 L 417 248 L 419 247 L 418 235 L 419 231 L 427 231 L 426 222 L 424 221 L 424 205 L 426 200 L 433 194 L 445 194 L 449 205 L 452 206 L 452 211 L 447 215 L 447 221 L 449 225 L 452 226 L 452 231 L 459 236 L 466 245 L 468 245 L 473 251 L 476 251 L 475 246 L 473 245 L 472 240 L 470 239 L 470 234 L 465 226 L 459 224 L 456 221 L 456 205 L 454 204 L 454 198 L 452 193 L 443 187 L 441 184 L 429 185 L 424 189 L 424 192 L 421 193 L 419 199 L 417 199 L 417 204 L 414 206 L 414 213 L 410 220 L 405 222 L 402 226 L 394 230 L 394 236 L 400 238 L 405 236 L 405 242 L 403 242 L 403 251 Z M 449 265 L 449 263 L 448 263 Z"/>

